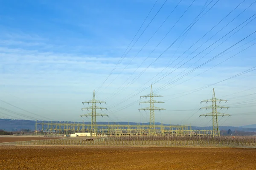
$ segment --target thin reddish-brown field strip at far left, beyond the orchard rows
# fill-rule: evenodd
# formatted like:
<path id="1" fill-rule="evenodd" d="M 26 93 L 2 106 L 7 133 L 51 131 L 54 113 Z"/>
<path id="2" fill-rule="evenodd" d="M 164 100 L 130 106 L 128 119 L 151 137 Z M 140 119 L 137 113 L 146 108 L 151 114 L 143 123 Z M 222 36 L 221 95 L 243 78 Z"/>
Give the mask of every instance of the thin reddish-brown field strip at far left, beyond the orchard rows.
<path id="1" fill-rule="evenodd" d="M 33 140 L 45 140 L 45 139 L 60 139 L 60 137 L 38 137 L 38 136 L 22 136 L 22 137 L 0 137 L 0 143 L 3 142 L 18 142 L 18 141 L 33 141 Z"/>

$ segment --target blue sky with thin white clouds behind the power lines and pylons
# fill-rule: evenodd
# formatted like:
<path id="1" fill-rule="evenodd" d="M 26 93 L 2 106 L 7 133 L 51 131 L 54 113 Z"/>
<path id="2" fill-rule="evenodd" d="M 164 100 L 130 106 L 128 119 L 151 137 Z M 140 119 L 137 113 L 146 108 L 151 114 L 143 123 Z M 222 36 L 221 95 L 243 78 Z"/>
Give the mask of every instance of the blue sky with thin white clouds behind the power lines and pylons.
<path id="1" fill-rule="evenodd" d="M 81 112 L 81 102 L 90 100 L 96 90 L 97 99 L 106 100 L 110 116 L 99 121 L 148 122 L 149 113 L 138 111 L 147 105 L 140 106 L 137 100 L 149 94 L 153 84 L 157 94 L 164 96 L 157 100 L 165 101 L 157 106 L 166 108 L 161 113 L 156 111 L 156 122 L 206 126 L 210 125 L 210 118 L 199 118 L 204 111 L 198 109 L 205 106 L 201 100 L 210 98 L 215 88 L 216 97 L 230 98 L 230 102 L 223 103 L 230 104 L 230 110 L 224 112 L 234 115 L 222 118 L 220 125 L 255 124 L 255 115 L 235 116 L 256 108 L 255 71 L 211 84 L 256 66 L 256 33 L 252 34 L 256 31 L 256 3 L 217 1 L 158 0 L 147 20 L 154 0 L 0 1 L 0 99 L 49 120 L 88 121 L 79 117 L 87 113 Z M 200 20 L 175 42 L 198 14 Z M 125 52 L 144 20 L 129 52 Z M 101 86 L 124 52 L 122 62 Z M 193 70 L 215 56 L 216 59 Z M 192 72 L 186 74 L 189 71 Z M 207 85 L 211 86 L 189 94 Z M 29 115 L 6 103 L 0 104 Z"/>

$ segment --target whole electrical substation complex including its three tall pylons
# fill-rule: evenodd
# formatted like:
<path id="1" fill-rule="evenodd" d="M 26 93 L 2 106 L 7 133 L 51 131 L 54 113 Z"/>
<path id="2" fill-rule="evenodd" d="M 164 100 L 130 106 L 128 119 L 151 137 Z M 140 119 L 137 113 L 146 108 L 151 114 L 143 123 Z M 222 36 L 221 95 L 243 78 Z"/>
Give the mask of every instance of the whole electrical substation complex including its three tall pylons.
<path id="1" fill-rule="evenodd" d="M 108 110 L 107 108 L 102 108 L 96 106 L 96 103 L 105 103 L 104 101 L 99 101 L 95 99 L 95 91 L 93 91 L 93 99 L 82 102 L 82 104 L 92 105 L 86 108 L 81 108 L 81 110 L 91 111 L 90 113 L 83 114 L 82 116 L 91 117 L 91 122 L 35 122 L 35 133 L 40 134 L 76 134 L 76 133 L 87 133 L 87 136 L 92 138 L 95 136 L 220 136 L 220 131 L 218 129 L 218 116 L 231 116 L 230 114 L 219 113 L 217 109 L 224 109 L 228 107 L 216 105 L 216 102 L 227 102 L 224 99 L 216 99 L 215 91 L 213 89 L 212 99 L 202 100 L 201 102 L 212 102 L 212 105 L 207 107 L 202 107 L 200 109 L 212 109 L 212 112 L 201 114 L 200 116 L 212 116 L 212 130 L 193 130 L 191 125 L 155 125 L 155 110 L 165 110 L 164 108 L 158 108 L 154 106 L 155 103 L 164 103 L 154 100 L 155 97 L 162 97 L 153 93 L 153 88 L 151 85 L 151 92 L 148 95 L 140 96 L 149 97 L 148 101 L 140 102 L 150 104 L 149 107 L 141 108 L 139 111 L 149 111 L 150 112 L 150 122 L 149 123 L 137 123 L 134 124 L 119 124 L 116 122 L 108 122 L 107 124 L 97 124 L 97 116 L 108 116 L 108 114 L 97 113 L 96 110 Z"/>

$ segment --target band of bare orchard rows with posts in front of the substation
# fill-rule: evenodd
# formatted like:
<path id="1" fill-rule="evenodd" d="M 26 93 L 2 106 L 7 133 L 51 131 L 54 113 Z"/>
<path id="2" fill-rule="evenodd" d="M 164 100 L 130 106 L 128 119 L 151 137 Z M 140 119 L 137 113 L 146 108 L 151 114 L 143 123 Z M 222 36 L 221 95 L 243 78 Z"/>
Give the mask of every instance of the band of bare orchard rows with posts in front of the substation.
<path id="1" fill-rule="evenodd" d="M 102 145 L 102 146 L 223 146 L 223 147 L 256 147 L 254 138 L 231 138 L 221 136 L 111 136 L 93 141 L 81 139 L 46 139 L 17 142 L 20 145 Z"/>

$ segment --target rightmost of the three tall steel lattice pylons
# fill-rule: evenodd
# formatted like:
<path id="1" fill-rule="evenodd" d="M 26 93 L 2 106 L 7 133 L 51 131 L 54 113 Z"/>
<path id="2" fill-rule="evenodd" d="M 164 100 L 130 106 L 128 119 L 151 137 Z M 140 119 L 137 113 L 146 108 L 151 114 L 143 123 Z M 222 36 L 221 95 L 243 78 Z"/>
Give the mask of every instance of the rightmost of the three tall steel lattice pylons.
<path id="1" fill-rule="evenodd" d="M 230 114 L 225 114 L 225 113 L 219 113 L 217 112 L 217 109 L 223 109 L 223 108 L 227 108 L 229 109 L 229 107 L 225 107 L 225 106 L 219 106 L 219 105 L 216 105 L 216 102 L 227 102 L 228 100 L 224 100 L 224 99 L 216 99 L 215 97 L 215 92 L 214 92 L 214 88 L 213 88 L 213 92 L 212 92 L 212 99 L 208 99 L 208 100 L 202 100 L 202 102 L 212 102 L 212 105 L 211 106 L 207 106 L 207 107 L 203 107 L 203 108 L 200 108 L 200 109 L 212 109 L 212 113 L 206 113 L 206 114 L 202 114 L 200 116 L 212 116 L 212 137 L 215 136 L 215 132 L 216 132 L 216 135 L 218 135 L 218 137 L 221 136 L 220 134 L 220 131 L 218 129 L 218 116 L 231 116 Z M 200 117 L 199 116 L 199 117 Z"/>

